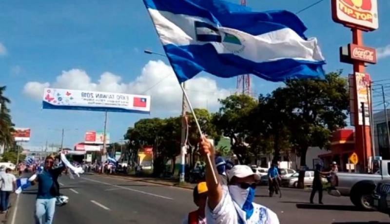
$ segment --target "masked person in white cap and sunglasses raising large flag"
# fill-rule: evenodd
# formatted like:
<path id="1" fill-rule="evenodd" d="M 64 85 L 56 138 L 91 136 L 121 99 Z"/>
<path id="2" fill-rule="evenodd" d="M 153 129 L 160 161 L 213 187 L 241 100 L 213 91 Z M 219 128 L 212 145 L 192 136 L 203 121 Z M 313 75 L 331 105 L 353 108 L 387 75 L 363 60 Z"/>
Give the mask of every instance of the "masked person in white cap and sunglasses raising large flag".
<path id="1" fill-rule="evenodd" d="M 212 161 L 212 167 L 206 166 L 208 224 L 279 224 L 271 209 L 253 202 L 260 176 L 247 165 L 235 165 L 228 173 L 228 185 L 221 185 L 219 180 L 215 183 L 212 174 L 212 169 L 217 173 L 214 148 L 204 136 L 199 150 L 204 156 L 209 154 Z"/>

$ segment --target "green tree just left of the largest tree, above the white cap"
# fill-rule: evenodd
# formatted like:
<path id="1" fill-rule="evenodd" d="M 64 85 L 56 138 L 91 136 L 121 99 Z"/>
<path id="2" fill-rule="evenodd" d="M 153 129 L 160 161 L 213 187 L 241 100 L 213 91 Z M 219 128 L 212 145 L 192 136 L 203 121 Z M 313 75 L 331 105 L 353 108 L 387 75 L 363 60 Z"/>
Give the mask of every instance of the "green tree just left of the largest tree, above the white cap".
<path id="1" fill-rule="evenodd" d="M 239 162 L 250 163 L 249 145 L 245 139 L 249 135 L 248 127 L 252 125 L 248 118 L 257 102 L 247 95 L 232 95 L 219 102 L 221 107 L 213 119 L 216 128 L 230 138 L 231 149 Z"/>

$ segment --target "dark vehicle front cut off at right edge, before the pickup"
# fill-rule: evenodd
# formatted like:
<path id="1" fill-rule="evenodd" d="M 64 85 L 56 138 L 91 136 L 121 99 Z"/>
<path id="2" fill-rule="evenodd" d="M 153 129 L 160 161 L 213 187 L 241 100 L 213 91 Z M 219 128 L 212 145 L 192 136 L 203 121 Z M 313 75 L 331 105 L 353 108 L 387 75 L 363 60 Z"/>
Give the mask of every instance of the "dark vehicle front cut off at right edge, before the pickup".
<path id="1" fill-rule="evenodd" d="M 375 210 L 390 215 L 390 180 L 379 182 L 372 194 L 372 206 Z"/>

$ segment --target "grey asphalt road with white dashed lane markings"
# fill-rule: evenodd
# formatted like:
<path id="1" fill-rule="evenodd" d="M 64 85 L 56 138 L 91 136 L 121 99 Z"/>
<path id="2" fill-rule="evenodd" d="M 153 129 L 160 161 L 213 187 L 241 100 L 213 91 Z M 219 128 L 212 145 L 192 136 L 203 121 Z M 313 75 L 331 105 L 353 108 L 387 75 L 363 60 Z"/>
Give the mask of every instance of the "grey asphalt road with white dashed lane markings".
<path id="1" fill-rule="evenodd" d="M 59 182 L 70 201 L 56 208 L 54 224 L 178 224 L 195 209 L 188 189 L 97 175 L 63 176 Z M 33 188 L 20 195 L 13 224 L 34 223 L 35 193 Z M 282 224 L 390 222 L 388 215 L 356 210 L 348 198 L 325 195 L 325 205 L 306 204 L 309 194 L 284 189 L 281 199 L 269 198 L 266 187 L 259 187 L 255 202 L 273 209 Z"/>

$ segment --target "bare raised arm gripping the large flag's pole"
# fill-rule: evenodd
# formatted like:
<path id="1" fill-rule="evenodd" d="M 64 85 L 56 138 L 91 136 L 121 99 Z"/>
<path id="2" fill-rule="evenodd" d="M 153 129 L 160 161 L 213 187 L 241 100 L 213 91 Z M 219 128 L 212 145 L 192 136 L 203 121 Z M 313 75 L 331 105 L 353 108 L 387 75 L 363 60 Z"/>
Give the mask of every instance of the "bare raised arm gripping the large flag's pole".
<path id="1" fill-rule="evenodd" d="M 202 136 L 199 150 L 201 154 L 205 157 L 206 161 L 208 161 L 207 154 L 210 155 L 212 164 L 210 165 L 208 164 L 208 162 L 206 162 L 206 183 L 209 191 L 209 207 L 211 210 L 214 210 L 216 205 L 218 205 L 218 203 L 221 201 L 223 194 L 221 184 L 219 183 L 219 180 L 218 183 L 215 183 L 212 172 L 212 169 L 214 169 L 214 173 L 218 173 L 214 160 L 215 152 L 213 145 L 204 136 Z"/>

